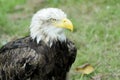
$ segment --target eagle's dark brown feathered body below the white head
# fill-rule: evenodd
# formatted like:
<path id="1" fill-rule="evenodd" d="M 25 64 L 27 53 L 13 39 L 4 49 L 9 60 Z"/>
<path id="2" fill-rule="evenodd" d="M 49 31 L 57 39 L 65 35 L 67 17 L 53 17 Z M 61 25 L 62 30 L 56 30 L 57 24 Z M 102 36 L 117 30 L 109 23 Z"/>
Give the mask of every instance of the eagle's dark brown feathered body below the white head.
<path id="1" fill-rule="evenodd" d="M 0 49 L 0 80 L 66 80 L 75 57 L 69 40 L 49 47 L 31 37 L 21 38 Z"/>

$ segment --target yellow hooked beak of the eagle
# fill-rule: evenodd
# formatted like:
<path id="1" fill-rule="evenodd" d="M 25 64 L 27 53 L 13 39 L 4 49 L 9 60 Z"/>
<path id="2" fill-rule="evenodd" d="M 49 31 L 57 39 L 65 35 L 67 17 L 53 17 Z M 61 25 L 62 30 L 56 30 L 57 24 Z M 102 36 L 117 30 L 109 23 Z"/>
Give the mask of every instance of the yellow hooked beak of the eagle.
<path id="1" fill-rule="evenodd" d="M 60 22 L 56 22 L 55 26 L 60 27 L 60 28 L 66 28 L 66 29 L 73 31 L 73 24 L 67 18 L 61 20 Z"/>

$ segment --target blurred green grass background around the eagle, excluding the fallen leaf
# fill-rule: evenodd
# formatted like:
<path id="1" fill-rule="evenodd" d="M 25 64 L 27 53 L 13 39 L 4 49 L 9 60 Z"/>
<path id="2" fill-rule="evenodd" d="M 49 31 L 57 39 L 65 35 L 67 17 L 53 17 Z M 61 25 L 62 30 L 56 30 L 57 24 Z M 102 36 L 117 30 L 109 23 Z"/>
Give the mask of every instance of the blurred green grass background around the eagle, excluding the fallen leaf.
<path id="1" fill-rule="evenodd" d="M 32 15 L 57 7 L 67 13 L 78 54 L 68 80 L 80 80 L 77 66 L 89 63 L 95 71 L 81 80 L 120 80 L 120 0 L 0 0 L 0 46 L 29 35 Z"/>

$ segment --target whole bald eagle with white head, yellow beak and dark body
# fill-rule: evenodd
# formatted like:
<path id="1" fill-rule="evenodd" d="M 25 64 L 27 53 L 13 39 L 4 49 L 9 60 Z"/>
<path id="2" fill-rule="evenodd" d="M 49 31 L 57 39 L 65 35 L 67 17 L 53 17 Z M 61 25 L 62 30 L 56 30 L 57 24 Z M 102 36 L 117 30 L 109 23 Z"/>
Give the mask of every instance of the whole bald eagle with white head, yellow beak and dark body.
<path id="1" fill-rule="evenodd" d="M 77 50 L 64 29 L 72 31 L 73 25 L 61 9 L 35 13 L 30 36 L 0 49 L 0 80 L 66 80 Z"/>

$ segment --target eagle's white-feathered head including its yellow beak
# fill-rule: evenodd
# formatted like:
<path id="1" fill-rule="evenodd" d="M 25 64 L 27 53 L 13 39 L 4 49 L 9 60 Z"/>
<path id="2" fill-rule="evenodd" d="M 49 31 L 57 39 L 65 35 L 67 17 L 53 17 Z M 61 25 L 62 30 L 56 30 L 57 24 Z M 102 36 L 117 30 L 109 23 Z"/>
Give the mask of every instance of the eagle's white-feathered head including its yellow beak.
<path id="1" fill-rule="evenodd" d="M 46 8 L 34 14 L 30 25 L 30 36 L 37 43 L 44 41 L 52 45 L 53 41 L 65 41 L 64 29 L 73 31 L 73 25 L 67 15 L 57 8 Z"/>

